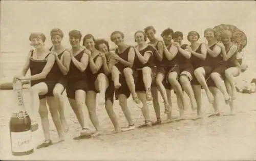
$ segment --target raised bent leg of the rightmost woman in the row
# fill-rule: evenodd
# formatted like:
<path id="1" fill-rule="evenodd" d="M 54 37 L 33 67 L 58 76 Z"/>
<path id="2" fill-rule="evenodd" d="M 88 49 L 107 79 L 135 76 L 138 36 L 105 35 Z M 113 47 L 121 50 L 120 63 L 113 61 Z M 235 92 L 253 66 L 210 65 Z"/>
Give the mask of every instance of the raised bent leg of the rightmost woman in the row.
<path id="1" fill-rule="evenodd" d="M 231 87 L 231 93 L 229 95 L 231 96 L 231 100 L 236 99 L 236 86 L 234 86 L 234 77 L 237 77 L 239 75 L 239 68 L 238 67 L 229 67 L 225 71 L 225 77 L 229 82 L 229 85 Z M 225 83 L 226 84 L 226 83 Z"/>

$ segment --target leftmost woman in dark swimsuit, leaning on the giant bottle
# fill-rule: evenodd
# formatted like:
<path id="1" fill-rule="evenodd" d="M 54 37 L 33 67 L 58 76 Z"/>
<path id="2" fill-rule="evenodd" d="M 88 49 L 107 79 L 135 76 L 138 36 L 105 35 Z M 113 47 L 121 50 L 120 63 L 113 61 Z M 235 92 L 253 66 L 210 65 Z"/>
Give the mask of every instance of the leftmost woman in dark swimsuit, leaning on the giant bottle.
<path id="1" fill-rule="evenodd" d="M 29 52 L 21 76 L 14 77 L 14 81 L 16 79 L 31 81 L 31 88 L 29 89 L 31 97 L 31 131 L 38 128 L 35 120 L 35 108 L 37 109 L 39 107 L 38 111 L 45 136 L 45 141 L 37 146 L 37 149 L 39 149 L 52 145 L 46 98 L 59 135 L 59 141 L 63 141 L 63 131 L 58 117 L 58 109 L 51 104 L 51 102 L 54 101 L 52 91 L 56 84 L 53 71 L 51 71 L 55 62 L 54 54 L 51 54 L 51 52 L 45 48 L 44 42 L 46 37 L 43 33 L 31 33 L 29 40 L 35 49 Z M 31 71 L 31 76 L 26 76 L 28 69 Z"/>

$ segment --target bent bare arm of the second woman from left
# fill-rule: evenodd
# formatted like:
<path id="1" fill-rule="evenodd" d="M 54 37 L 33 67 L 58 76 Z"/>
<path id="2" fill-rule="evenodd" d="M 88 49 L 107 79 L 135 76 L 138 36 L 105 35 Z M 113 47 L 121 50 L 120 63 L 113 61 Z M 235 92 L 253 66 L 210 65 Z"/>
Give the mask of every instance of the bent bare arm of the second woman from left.
<path id="1" fill-rule="evenodd" d="M 59 59 L 57 56 L 55 58 L 61 73 L 63 75 L 67 75 L 69 72 L 69 66 L 71 61 L 70 53 L 68 51 L 65 51 L 61 59 Z"/>

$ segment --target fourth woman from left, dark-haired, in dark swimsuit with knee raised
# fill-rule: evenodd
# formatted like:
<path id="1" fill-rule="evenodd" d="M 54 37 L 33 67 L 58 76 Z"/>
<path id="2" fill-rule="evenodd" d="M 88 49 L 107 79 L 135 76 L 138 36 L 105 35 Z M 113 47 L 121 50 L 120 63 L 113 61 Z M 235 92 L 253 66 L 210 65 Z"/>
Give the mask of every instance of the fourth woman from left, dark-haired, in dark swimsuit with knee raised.
<path id="1" fill-rule="evenodd" d="M 104 74 L 103 59 L 99 56 L 100 52 L 95 49 L 95 38 L 91 34 L 87 34 L 83 38 L 83 46 L 90 50 L 89 65 L 86 72 L 88 77 L 89 88 L 86 95 L 86 105 L 88 108 L 90 119 L 96 129 L 94 136 L 100 135 L 101 130 L 96 115 L 96 96 L 99 93 L 98 104 L 100 106 L 105 103 L 105 91 L 109 86 L 109 81 Z"/>

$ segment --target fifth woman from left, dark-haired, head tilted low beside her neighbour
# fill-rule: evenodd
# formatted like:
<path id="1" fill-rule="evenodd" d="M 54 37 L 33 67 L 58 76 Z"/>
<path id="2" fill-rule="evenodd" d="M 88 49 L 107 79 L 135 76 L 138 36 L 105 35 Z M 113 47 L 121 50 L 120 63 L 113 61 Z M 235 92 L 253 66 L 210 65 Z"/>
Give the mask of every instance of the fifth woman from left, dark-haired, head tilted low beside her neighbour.
<path id="1" fill-rule="evenodd" d="M 111 54 L 109 51 L 109 43 L 104 39 L 96 40 L 95 48 L 102 52 L 99 54 L 103 60 L 103 70 L 104 74 L 108 77 L 109 87 L 106 88 L 105 92 L 105 108 L 106 112 L 108 113 L 110 120 L 112 121 L 115 131 L 114 133 L 121 132 L 119 128 L 118 120 L 116 117 L 116 113 L 113 108 L 114 104 L 114 93 L 115 93 L 115 86 L 111 76 L 112 66 L 115 65 L 116 61 L 114 59 L 110 59 Z"/>

